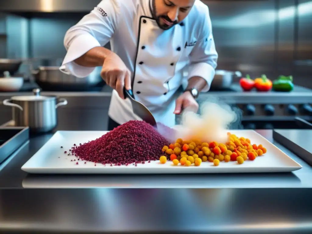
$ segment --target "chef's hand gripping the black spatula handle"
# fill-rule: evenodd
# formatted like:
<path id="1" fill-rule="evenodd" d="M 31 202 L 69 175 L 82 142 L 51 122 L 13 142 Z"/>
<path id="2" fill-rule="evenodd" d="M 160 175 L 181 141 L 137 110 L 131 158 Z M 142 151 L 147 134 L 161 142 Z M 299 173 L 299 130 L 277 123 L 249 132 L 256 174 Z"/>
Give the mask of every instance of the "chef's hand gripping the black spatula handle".
<path id="1" fill-rule="evenodd" d="M 123 99 L 124 86 L 127 90 L 131 89 L 131 72 L 115 53 L 111 53 L 105 58 L 101 77 L 106 84 L 115 89 Z"/>

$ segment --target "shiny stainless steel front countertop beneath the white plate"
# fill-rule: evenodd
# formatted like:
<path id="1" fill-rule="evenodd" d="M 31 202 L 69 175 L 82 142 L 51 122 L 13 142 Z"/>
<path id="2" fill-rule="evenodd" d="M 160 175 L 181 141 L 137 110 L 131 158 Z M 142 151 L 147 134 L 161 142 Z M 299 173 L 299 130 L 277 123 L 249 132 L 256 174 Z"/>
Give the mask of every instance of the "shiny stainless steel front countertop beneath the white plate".
<path id="1" fill-rule="evenodd" d="M 0 232 L 311 233 L 312 168 L 274 142 L 271 130 L 258 132 L 303 168 L 277 174 L 29 176 L 21 166 L 52 134 L 32 138 L 0 171 L 0 188 L 7 188 L 0 190 Z"/>

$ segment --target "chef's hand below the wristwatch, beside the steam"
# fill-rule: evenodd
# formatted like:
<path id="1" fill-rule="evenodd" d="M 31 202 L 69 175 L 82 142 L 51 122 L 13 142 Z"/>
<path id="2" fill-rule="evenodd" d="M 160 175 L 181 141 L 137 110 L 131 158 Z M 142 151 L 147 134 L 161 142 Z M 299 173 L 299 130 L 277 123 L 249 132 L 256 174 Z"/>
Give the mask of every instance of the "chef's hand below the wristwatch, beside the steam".
<path id="1" fill-rule="evenodd" d="M 176 108 L 174 114 L 180 115 L 183 110 L 197 112 L 199 105 L 189 91 L 184 92 L 176 100 Z"/>

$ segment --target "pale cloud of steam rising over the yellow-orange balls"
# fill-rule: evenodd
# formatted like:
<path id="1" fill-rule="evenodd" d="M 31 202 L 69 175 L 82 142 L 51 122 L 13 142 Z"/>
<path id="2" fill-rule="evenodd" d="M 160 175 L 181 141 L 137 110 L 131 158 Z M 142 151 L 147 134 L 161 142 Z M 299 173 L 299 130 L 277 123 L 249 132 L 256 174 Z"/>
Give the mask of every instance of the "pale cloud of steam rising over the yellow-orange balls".
<path id="1" fill-rule="evenodd" d="M 199 140 L 201 142 L 228 140 L 228 129 L 242 129 L 242 110 L 231 107 L 217 98 L 209 98 L 200 105 L 200 114 L 185 111 L 182 123 L 177 125 L 176 139 Z"/>

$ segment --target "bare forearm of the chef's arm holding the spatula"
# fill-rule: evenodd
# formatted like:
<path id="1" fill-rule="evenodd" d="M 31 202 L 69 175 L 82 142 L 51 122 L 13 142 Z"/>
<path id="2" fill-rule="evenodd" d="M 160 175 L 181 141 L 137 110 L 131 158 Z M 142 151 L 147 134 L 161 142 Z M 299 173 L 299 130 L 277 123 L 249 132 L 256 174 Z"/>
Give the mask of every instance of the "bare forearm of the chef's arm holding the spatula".
<path id="1" fill-rule="evenodd" d="M 94 47 L 86 52 L 83 56 L 77 58 L 75 63 L 85 67 L 103 66 L 105 58 L 111 53 L 114 52 L 104 47 Z"/>

